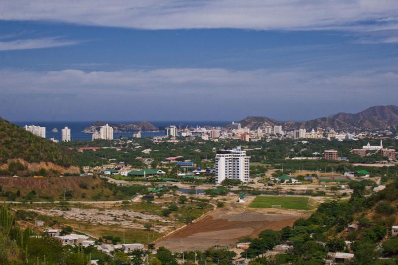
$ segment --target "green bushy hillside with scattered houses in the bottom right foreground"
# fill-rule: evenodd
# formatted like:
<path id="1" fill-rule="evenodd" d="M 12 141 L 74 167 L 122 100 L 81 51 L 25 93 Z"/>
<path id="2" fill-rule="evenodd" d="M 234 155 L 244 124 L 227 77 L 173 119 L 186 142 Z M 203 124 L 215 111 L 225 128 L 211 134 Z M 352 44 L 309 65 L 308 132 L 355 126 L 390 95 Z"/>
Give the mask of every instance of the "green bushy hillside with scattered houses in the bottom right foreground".
<path id="1" fill-rule="evenodd" d="M 398 236 L 392 234 L 392 226 L 398 225 L 398 180 L 369 196 L 372 185 L 369 180 L 352 181 L 354 192 L 349 200 L 322 203 L 308 219 L 298 219 L 293 228 L 265 230 L 259 238 L 245 239 L 251 242 L 248 257 L 257 257 L 249 265 L 322 265 L 327 253 L 335 252 L 354 254 L 346 264 L 398 264 Z M 280 244 L 292 246 L 291 251 L 261 257 Z"/>

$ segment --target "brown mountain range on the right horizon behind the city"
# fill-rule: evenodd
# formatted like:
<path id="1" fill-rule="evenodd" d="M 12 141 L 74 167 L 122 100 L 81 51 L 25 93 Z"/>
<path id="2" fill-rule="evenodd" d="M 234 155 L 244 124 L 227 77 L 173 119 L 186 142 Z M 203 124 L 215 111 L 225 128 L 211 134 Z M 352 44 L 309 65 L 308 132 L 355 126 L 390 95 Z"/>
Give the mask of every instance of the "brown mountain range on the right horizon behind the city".
<path id="1" fill-rule="evenodd" d="M 280 122 L 268 117 L 249 116 L 240 121 L 242 127 L 251 129 L 264 128 L 265 126 L 282 125 L 285 130 L 305 128 L 307 130 L 317 127 L 334 128 L 335 130 L 377 130 L 398 129 L 398 106 L 373 106 L 361 112 L 351 114 L 339 112 L 328 117 L 308 121 Z"/>

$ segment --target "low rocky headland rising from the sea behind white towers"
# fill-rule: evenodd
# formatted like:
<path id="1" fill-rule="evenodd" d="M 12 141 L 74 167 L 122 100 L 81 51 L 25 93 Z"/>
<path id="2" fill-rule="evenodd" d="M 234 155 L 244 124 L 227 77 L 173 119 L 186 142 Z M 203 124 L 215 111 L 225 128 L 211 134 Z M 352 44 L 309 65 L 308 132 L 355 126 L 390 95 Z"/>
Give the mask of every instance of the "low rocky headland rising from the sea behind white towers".
<path id="1" fill-rule="evenodd" d="M 105 125 L 102 121 L 96 121 L 89 127 L 85 128 L 83 132 L 94 133 L 95 131 L 100 131 L 100 127 Z M 109 123 L 110 127 L 113 127 L 113 132 L 115 133 L 129 133 L 137 131 L 156 131 L 158 128 L 150 122 L 142 121 L 138 123 Z"/>

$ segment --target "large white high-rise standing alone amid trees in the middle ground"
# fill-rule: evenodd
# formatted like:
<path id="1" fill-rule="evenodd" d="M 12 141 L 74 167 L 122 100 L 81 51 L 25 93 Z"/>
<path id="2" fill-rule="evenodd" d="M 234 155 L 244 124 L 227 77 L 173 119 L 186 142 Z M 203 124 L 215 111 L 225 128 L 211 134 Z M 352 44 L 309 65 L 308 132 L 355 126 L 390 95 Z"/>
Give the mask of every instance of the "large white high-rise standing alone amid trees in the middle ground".
<path id="1" fill-rule="evenodd" d="M 250 157 L 240 147 L 232 150 L 219 150 L 215 156 L 215 183 L 227 178 L 249 182 Z"/>

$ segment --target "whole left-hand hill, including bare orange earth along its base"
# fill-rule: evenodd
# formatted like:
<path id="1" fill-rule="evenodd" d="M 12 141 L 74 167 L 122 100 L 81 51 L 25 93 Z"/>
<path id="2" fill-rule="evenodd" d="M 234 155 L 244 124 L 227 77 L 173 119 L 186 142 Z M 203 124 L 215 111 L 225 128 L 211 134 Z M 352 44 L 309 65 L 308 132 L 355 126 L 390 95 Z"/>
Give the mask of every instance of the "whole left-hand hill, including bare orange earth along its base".
<path id="1" fill-rule="evenodd" d="M 78 154 L 0 118 L 0 173 L 28 174 L 41 169 L 79 174 Z"/>

